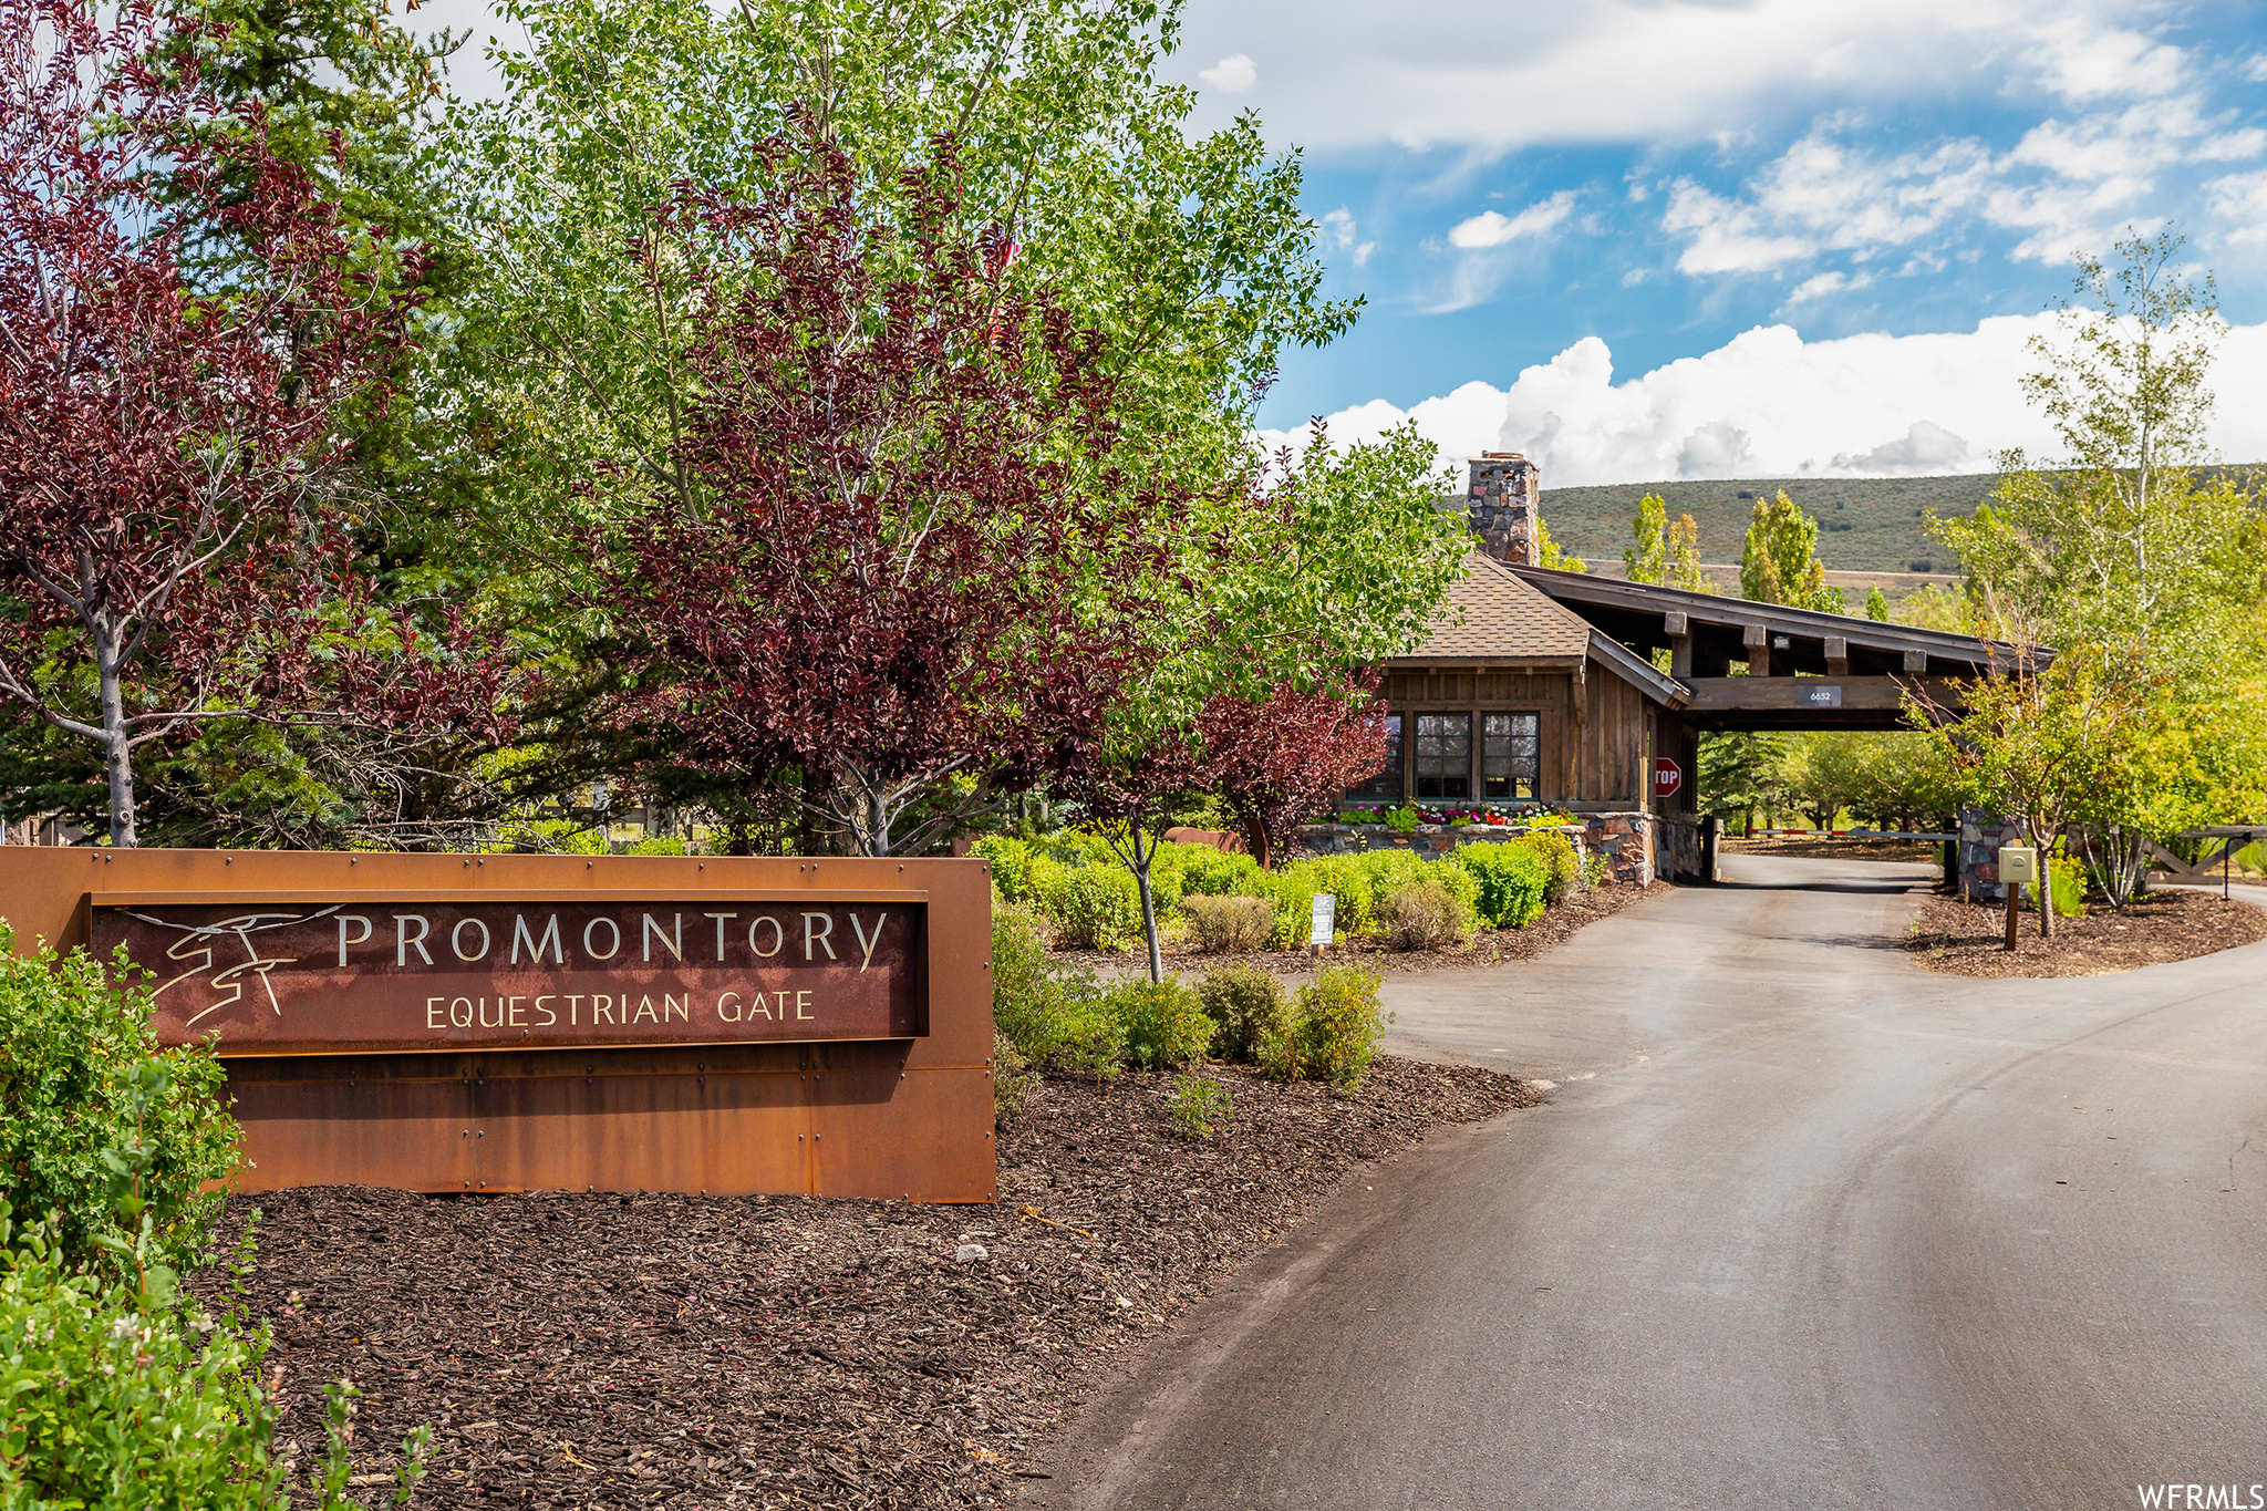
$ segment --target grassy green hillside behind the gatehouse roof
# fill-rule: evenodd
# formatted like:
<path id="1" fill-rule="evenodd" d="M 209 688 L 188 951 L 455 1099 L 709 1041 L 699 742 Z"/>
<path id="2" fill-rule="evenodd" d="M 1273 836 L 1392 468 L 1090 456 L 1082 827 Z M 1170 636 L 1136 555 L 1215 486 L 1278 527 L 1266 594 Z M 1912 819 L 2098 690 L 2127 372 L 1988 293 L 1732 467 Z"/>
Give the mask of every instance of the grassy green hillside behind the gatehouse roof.
<path id="1" fill-rule="evenodd" d="M 1777 489 L 1818 519 L 1818 560 L 1834 571 L 1954 571 L 1952 553 L 1922 530 L 1925 514 L 1970 514 L 1990 494 L 1995 473 L 1959 478 L 1739 478 L 1721 483 L 1612 483 L 1551 487 L 1544 519 L 1551 539 L 1591 562 L 1619 562 L 1630 546 L 1637 501 L 1659 494 L 1669 519 L 1700 526 L 1703 562 L 1737 562 L 1757 498 Z"/>

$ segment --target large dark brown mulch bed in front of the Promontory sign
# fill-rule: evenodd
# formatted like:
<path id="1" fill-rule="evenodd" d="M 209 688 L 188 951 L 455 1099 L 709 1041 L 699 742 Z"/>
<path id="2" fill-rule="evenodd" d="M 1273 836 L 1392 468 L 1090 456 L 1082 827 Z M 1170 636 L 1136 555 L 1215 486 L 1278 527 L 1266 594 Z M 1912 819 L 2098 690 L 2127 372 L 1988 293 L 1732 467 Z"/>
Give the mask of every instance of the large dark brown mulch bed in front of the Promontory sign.
<path id="1" fill-rule="evenodd" d="M 322 1386 L 351 1375 L 358 1475 L 433 1425 L 419 1506 L 993 1506 L 1349 1169 L 1542 1099 L 1396 1058 L 1351 1094 L 1213 1074 L 1236 1101 L 1213 1142 L 1172 1133 L 1172 1076 L 1045 1081 L 1000 1139 L 997 1205 L 231 1198 L 231 1230 L 265 1212 L 247 1296 L 286 1366 L 279 1436 L 313 1457 Z"/>

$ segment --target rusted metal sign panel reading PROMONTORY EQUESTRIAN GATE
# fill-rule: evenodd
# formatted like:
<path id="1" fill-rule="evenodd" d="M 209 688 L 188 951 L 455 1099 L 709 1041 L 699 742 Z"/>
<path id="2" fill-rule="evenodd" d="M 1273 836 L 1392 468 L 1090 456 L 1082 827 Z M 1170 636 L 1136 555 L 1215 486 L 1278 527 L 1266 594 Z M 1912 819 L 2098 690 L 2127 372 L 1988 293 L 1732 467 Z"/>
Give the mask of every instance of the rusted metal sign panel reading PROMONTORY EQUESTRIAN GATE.
<path id="1" fill-rule="evenodd" d="M 88 897 L 161 1042 L 222 1053 L 884 1040 L 929 1031 L 920 893 Z"/>

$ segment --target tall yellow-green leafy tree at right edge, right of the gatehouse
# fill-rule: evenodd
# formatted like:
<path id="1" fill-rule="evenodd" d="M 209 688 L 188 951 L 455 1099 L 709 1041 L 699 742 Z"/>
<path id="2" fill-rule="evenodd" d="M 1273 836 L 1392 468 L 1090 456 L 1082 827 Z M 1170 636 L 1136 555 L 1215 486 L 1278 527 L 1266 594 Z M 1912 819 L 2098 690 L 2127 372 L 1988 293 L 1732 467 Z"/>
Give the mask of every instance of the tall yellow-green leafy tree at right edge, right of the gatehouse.
<path id="1" fill-rule="evenodd" d="M 1931 523 L 1968 569 L 1975 618 L 2058 650 L 2054 684 L 2022 720 L 1999 720 L 2009 734 L 1977 727 L 1975 761 L 2002 761 L 1995 741 L 2072 752 L 2033 763 L 2068 784 L 2052 806 L 2086 825 L 2077 843 L 2117 902 L 2138 886 L 2145 838 L 2267 802 L 2267 517 L 2206 467 L 2224 324 L 2210 276 L 2179 276 L 2179 251 L 2160 233 L 2117 242 L 2115 263 L 2079 258 L 2074 299 L 2058 301 L 2024 381 L 2063 455 L 2038 467 L 2004 453 L 1972 519 Z M 2115 759 L 2090 754 L 2104 729 Z"/>

